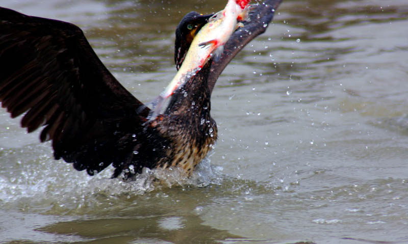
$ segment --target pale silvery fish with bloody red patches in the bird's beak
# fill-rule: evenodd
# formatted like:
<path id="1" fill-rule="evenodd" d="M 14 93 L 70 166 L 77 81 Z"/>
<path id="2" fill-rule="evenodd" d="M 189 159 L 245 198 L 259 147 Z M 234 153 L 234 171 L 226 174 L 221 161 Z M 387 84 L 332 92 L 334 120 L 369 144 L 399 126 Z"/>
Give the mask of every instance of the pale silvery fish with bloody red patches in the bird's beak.
<path id="1" fill-rule="evenodd" d="M 208 23 L 202 26 L 193 39 L 179 71 L 163 92 L 150 102 L 152 109 L 149 120 L 156 119 L 164 101 L 200 71 L 211 58 L 215 62 L 221 59 L 224 44 L 230 39 L 235 30 L 244 27 L 242 22 L 239 21 L 248 20 L 249 2 L 250 0 L 228 0 L 223 10 L 214 14 L 208 20 Z"/>

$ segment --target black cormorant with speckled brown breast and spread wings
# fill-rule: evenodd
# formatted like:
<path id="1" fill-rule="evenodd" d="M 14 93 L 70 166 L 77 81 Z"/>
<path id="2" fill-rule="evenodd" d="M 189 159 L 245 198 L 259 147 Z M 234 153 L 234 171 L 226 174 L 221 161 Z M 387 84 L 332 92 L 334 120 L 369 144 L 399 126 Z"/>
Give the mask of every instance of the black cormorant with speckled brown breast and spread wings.
<path id="1" fill-rule="evenodd" d="M 210 97 L 218 76 L 265 31 L 281 2 L 254 7 L 251 20 L 224 46 L 221 60 L 210 60 L 153 121 L 146 119 L 148 107 L 101 63 L 78 26 L 0 8 L 0 101 L 12 118 L 27 112 L 21 126 L 28 132 L 44 126 L 40 140 L 52 140 L 55 159 L 89 175 L 111 164 L 112 177 L 123 172 L 125 179 L 143 167 L 181 167 L 190 175 L 217 138 Z M 190 12 L 177 26 L 177 69 L 209 17 Z"/>

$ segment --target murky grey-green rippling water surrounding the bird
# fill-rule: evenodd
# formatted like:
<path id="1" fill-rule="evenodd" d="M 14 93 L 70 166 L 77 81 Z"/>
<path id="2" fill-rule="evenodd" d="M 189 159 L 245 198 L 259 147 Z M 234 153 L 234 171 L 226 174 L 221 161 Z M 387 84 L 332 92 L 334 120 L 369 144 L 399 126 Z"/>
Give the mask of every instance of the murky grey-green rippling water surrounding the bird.
<path id="1" fill-rule="evenodd" d="M 181 17 L 224 4 L 0 0 L 80 25 L 145 102 L 175 74 Z M 192 179 L 89 177 L 1 110 L 0 243 L 408 243 L 408 2 L 277 12 L 219 78 L 218 144 Z"/>

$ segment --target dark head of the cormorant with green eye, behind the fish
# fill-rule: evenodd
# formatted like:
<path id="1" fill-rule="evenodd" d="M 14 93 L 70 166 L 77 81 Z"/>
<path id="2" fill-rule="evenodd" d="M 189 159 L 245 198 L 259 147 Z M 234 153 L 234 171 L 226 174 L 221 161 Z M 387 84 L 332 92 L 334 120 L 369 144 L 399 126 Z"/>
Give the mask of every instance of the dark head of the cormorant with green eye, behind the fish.
<path id="1" fill-rule="evenodd" d="M 177 25 L 174 42 L 174 62 L 177 70 L 182 65 L 186 53 L 195 35 L 204 26 L 212 14 L 202 15 L 195 11 L 186 14 Z"/>

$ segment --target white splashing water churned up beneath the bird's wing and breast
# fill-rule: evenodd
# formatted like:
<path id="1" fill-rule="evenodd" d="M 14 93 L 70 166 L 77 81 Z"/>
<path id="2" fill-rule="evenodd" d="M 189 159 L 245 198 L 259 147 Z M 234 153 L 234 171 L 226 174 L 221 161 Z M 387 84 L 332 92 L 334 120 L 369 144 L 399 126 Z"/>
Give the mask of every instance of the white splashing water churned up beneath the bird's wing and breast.
<path id="1" fill-rule="evenodd" d="M 111 179 L 114 168 L 108 167 L 95 176 L 78 172 L 64 161 L 56 161 L 51 153 L 29 160 L 5 162 L 10 169 L 0 172 L 0 203 L 3 209 L 21 209 L 48 214 L 83 214 L 97 209 L 116 209 L 134 204 L 132 199 L 163 187 L 205 187 L 218 184 L 220 170 L 210 165 L 207 156 L 190 177 L 178 168 L 143 169 L 135 181 Z M 3 152 L 4 153 L 4 152 Z M 10 150 L 6 153 L 13 153 Z M 30 154 L 26 155 L 30 157 Z M 118 202 L 124 204 L 119 206 Z"/>

